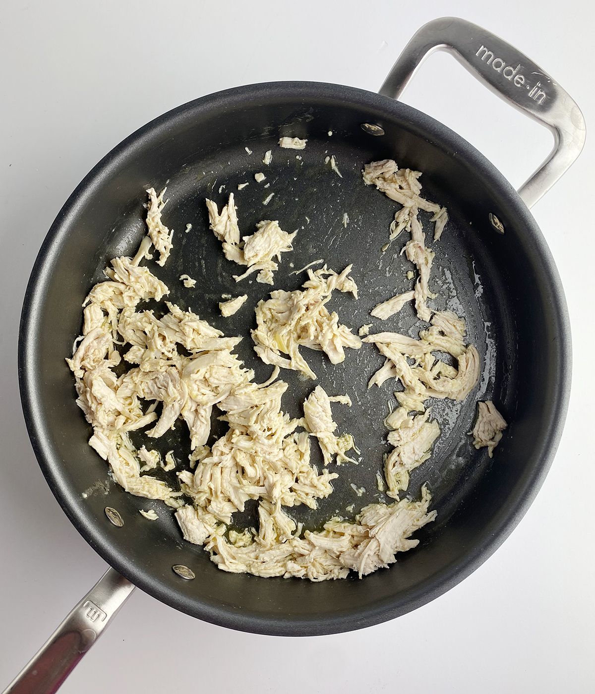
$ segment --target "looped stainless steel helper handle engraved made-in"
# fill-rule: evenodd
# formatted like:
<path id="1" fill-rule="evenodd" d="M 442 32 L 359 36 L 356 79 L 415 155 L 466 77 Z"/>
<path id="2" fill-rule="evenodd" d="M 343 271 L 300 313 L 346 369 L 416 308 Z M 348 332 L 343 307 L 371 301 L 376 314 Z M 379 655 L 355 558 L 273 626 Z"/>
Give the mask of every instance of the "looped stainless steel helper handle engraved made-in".
<path id="1" fill-rule="evenodd" d="M 492 92 L 553 133 L 551 154 L 519 188 L 527 207 L 533 207 L 585 144 L 585 119 L 575 101 L 514 46 L 458 17 L 433 19 L 422 26 L 395 62 L 380 94 L 398 99 L 421 63 L 435 51 L 451 53 Z"/>

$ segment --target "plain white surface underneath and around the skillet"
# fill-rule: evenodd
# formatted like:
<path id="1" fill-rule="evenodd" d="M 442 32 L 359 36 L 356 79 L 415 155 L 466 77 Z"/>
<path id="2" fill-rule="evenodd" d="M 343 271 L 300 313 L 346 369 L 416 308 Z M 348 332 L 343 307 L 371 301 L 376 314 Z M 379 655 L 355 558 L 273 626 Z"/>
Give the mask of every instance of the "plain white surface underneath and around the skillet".
<path id="1" fill-rule="evenodd" d="M 197 96 L 292 79 L 376 91 L 417 28 L 444 15 L 517 46 L 560 81 L 593 126 L 587 0 L 3 4 L 0 686 L 106 568 L 51 495 L 17 391 L 22 297 L 67 196 L 126 135 Z M 426 62 L 404 100 L 469 139 L 517 186 L 551 145 L 546 130 L 444 54 Z M 232 632 L 135 591 L 61 691 L 594 691 L 593 151 L 591 139 L 533 209 L 569 303 L 573 392 L 551 473 L 495 555 L 414 613 L 337 636 Z"/>

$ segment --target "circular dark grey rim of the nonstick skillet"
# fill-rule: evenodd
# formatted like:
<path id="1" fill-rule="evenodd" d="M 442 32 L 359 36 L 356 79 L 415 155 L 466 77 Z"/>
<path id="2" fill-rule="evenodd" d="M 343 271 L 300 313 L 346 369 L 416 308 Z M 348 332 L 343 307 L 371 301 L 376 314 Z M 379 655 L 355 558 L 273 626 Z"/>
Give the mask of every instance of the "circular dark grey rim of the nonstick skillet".
<path id="1" fill-rule="evenodd" d="M 426 582 L 418 584 L 416 589 L 405 593 L 405 596 L 397 600 L 393 599 L 394 604 L 378 604 L 377 607 L 366 607 L 359 611 L 349 614 L 333 616 L 333 618 L 275 618 L 260 617 L 249 614 L 238 613 L 225 607 L 215 607 L 196 600 L 192 601 L 193 609 L 189 609 L 188 598 L 181 593 L 173 593 L 165 590 L 154 577 L 139 570 L 134 562 L 124 555 L 120 550 L 110 543 L 101 539 L 101 533 L 97 527 L 93 527 L 81 511 L 80 505 L 70 498 L 67 491 L 63 488 L 60 466 L 52 461 L 51 450 L 47 443 L 47 432 L 44 432 L 43 416 L 40 411 L 40 398 L 37 397 L 37 386 L 35 379 L 36 363 L 36 339 L 35 332 L 40 321 L 40 306 L 44 287 L 51 279 L 51 267 L 53 260 L 60 253 L 62 242 L 67 236 L 69 219 L 76 217 L 77 211 L 83 204 L 85 194 L 95 187 L 101 187 L 103 181 L 109 178 L 110 171 L 117 167 L 119 162 L 146 140 L 158 135 L 164 128 L 173 126 L 178 120 L 183 121 L 191 114 L 220 108 L 227 105 L 229 108 L 240 103 L 246 103 L 255 99 L 270 99 L 271 95 L 277 98 L 291 99 L 314 99 L 320 98 L 340 98 L 341 101 L 349 105 L 360 105 L 365 108 L 374 108 L 377 111 L 385 112 L 387 117 L 399 117 L 406 121 L 411 128 L 424 132 L 433 137 L 436 142 L 443 146 L 449 146 L 458 156 L 464 159 L 467 164 L 475 169 L 482 171 L 482 176 L 493 186 L 505 201 L 508 208 L 516 215 L 519 222 L 523 225 L 535 242 L 535 253 L 542 262 L 542 272 L 548 280 L 548 289 L 553 298 L 553 315 L 558 323 L 560 339 L 558 341 L 558 351 L 560 359 L 558 364 L 558 388 L 553 397 L 550 419 L 553 425 L 548 431 L 548 436 L 544 439 L 542 449 L 544 456 L 523 479 L 521 489 L 515 490 L 514 502 L 512 495 L 508 499 L 508 505 L 502 509 L 491 526 L 489 539 L 480 545 L 475 546 L 466 555 L 464 561 L 454 563 L 454 566 L 447 566 L 437 576 L 430 577 Z M 496 194 L 496 193 L 495 193 Z M 28 281 L 24 304 L 22 309 L 21 323 L 19 328 L 19 347 L 18 347 L 18 373 L 19 388 L 21 393 L 24 418 L 28 430 L 33 451 L 37 462 L 42 468 L 42 473 L 46 478 L 53 495 L 67 514 L 69 520 L 81 533 L 85 541 L 89 543 L 98 554 L 115 568 L 119 573 L 131 580 L 133 584 L 140 587 L 158 600 L 169 604 L 180 611 L 188 613 L 196 618 L 206 620 L 210 623 L 237 629 L 245 632 L 258 634 L 269 634 L 278 636 L 315 636 L 323 634 L 333 634 L 346 632 L 353 629 L 360 629 L 381 623 L 383 621 L 401 616 L 404 613 L 417 609 L 421 605 L 434 600 L 443 593 L 446 593 L 453 586 L 469 576 L 478 566 L 483 564 L 486 559 L 505 541 L 508 535 L 517 526 L 523 515 L 526 513 L 531 502 L 537 495 L 542 486 L 546 474 L 551 466 L 555 451 L 564 426 L 564 419 L 567 412 L 570 375 L 571 375 L 571 333 L 569 325 L 569 315 L 562 284 L 555 267 L 551 251 L 546 241 L 530 214 L 526 205 L 521 201 L 512 185 L 508 183 L 503 175 L 487 160 L 478 150 L 460 135 L 454 133 L 439 121 L 429 117 L 408 105 L 381 96 L 374 92 L 367 92 L 355 87 L 335 85 L 317 82 L 272 82 L 260 83 L 257 85 L 245 85 L 233 87 L 229 90 L 215 92 L 203 96 L 200 99 L 187 102 L 169 112 L 153 119 L 148 124 L 142 126 L 134 133 L 126 137 L 121 143 L 117 144 L 93 169 L 83 178 L 81 183 L 74 189 L 60 212 L 53 221 L 47 236 L 40 248 L 40 251 L 33 265 L 31 277 Z M 256 579 L 256 577 L 255 577 Z M 389 602 L 389 601 L 388 601 Z"/>

